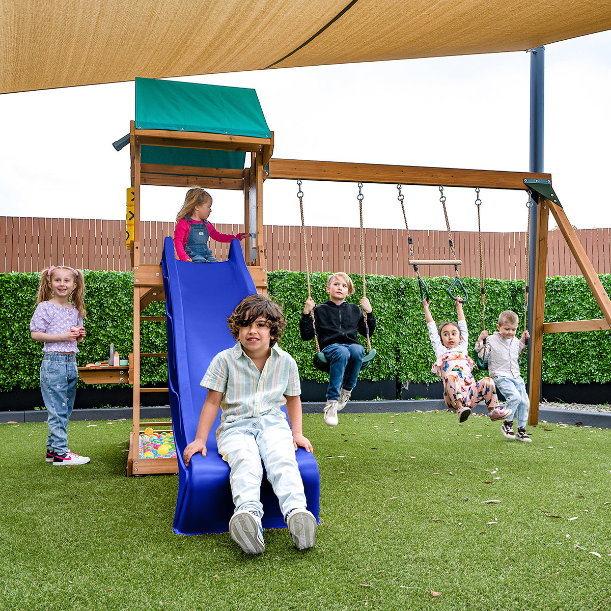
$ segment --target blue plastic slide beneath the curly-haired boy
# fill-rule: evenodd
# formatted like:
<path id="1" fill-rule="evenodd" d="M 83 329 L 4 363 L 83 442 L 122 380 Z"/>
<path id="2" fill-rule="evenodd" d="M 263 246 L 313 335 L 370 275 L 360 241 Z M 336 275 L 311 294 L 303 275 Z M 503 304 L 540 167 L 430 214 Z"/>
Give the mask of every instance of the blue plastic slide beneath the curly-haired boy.
<path id="1" fill-rule="evenodd" d="M 207 455 L 196 454 L 189 467 L 183 450 L 193 441 L 207 390 L 199 385 L 214 355 L 234 345 L 227 318 L 247 295 L 257 292 L 240 241 L 233 240 L 229 259 L 221 263 L 188 263 L 174 257 L 172 238 L 161 259 L 166 291 L 167 355 L 172 427 L 178 454 L 178 499 L 174 532 L 200 535 L 229 530 L 233 500 L 229 466 L 216 447 L 219 415 L 207 441 Z M 307 508 L 318 519 L 320 475 L 312 454 L 297 451 Z M 263 472 L 263 528 L 284 528 L 278 500 Z"/>

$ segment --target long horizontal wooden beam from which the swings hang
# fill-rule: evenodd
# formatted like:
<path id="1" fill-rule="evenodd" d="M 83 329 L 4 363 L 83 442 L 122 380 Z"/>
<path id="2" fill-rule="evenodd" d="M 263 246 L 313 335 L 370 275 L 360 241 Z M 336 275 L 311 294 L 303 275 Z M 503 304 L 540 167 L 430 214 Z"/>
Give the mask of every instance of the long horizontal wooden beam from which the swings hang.
<path id="1" fill-rule="evenodd" d="M 551 180 L 551 174 L 465 170 L 445 167 L 387 166 L 306 159 L 270 159 L 269 178 L 331 180 L 402 185 L 457 186 L 524 190 L 525 178 Z"/>

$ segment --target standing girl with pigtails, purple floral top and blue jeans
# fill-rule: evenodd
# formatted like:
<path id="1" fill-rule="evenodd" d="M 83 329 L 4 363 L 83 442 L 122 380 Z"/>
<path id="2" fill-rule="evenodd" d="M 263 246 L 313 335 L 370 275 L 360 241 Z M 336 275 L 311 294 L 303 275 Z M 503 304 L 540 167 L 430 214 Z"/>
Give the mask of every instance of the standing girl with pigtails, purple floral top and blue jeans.
<path id="1" fill-rule="evenodd" d="M 89 463 L 87 456 L 68 450 L 67 430 L 76 396 L 77 345 L 86 335 L 84 293 L 82 272 L 67 266 L 45 269 L 30 321 L 32 339 L 44 344 L 40 390 L 48 412 L 46 462 L 54 466 Z"/>

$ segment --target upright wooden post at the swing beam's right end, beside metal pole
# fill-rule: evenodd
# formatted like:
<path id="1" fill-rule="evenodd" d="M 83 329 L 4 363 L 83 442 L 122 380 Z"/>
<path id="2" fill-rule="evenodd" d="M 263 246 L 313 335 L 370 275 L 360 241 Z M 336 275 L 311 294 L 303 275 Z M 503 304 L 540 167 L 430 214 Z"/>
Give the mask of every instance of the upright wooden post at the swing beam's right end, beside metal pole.
<path id="1" fill-rule="evenodd" d="M 541 394 L 541 362 L 543 359 L 543 316 L 545 310 L 545 280 L 547 274 L 547 224 L 549 205 L 543 196 L 538 196 L 539 218 L 535 254 L 535 286 L 533 287 L 533 324 L 530 338 L 530 412 L 529 425 L 539 422 L 539 397 Z"/>

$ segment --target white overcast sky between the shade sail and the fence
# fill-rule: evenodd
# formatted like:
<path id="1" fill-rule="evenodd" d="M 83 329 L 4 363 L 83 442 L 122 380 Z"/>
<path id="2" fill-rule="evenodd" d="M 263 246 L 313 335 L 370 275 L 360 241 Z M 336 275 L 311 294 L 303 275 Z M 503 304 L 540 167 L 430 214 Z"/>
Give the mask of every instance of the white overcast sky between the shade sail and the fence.
<path id="1" fill-rule="evenodd" d="M 474 32 L 474 35 L 477 35 Z M 579 229 L 611 227 L 611 32 L 546 46 L 544 170 Z M 274 157 L 528 171 L 530 54 L 190 76 L 252 87 Z M 133 82 L 0 95 L 0 216 L 125 218 Z M 305 181 L 305 222 L 357 226 L 357 188 Z M 366 227 L 404 227 L 395 185 L 364 186 Z M 293 181 L 264 185 L 266 224 L 300 224 Z M 410 229 L 445 229 L 436 187 L 404 187 Z M 142 219 L 174 221 L 185 189 L 144 187 Z M 213 191 L 211 222 L 241 222 L 241 194 Z M 474 189 L 446 188 L 452 229 L 477 230 Z M 483 190 L 484 230 L 526 225 L 522 192 Z M 551 222 L 551 226 L 554 222 Z"/>

